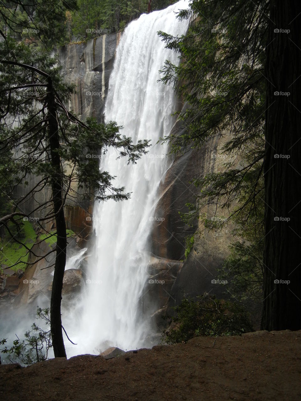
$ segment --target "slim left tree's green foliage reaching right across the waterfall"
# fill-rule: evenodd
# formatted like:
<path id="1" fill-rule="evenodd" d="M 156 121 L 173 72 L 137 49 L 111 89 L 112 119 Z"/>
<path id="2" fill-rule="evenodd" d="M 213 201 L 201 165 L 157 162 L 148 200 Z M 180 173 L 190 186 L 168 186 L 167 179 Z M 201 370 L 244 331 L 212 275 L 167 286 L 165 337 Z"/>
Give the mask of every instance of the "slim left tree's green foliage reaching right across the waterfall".
<path id="1" fill-rule="evenodd" d="M 136 164 L 141 155 L 147 152 L 146 148 L 149 146 L 147 140 L 139 140 L 134 145 L 130 137 L 119 133 L 121 129 L 122 127 L 117 126 L 115 122 L 109 122 L 106 125 L 97 124 L 95 118 L 89 117 L 85 127 L 81 129 L 78 129 L 76 125 L 69 127 L 68 141 L 61 146 L 62 160 L 66 160 L 70 168 L 77 165 L 73 180 L 78 182 L 79 188 L 83 188 L 85 193 L 94 193 L 98 201 L 126 200 L 130 194 L 123 193 L 124 187 L 115 188 L 111 184 L 115 177 L 107 171 L 100 172 L 99 158 L 89 156 L 106 154 L 109 146 L 114 146 L 118 149 L 117 158 L 126 157 L 128 164 Z M 106 190 L 107 193 L 105 193 Z"/>

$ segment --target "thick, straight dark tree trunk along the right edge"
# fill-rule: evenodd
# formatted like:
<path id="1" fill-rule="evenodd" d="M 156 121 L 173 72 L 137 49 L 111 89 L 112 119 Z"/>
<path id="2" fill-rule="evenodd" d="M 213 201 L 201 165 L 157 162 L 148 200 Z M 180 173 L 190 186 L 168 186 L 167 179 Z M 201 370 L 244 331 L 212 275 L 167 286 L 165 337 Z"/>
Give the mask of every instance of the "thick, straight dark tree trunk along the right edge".
<path id="1" fill-rule="evenodd" d="M 301 329 L 301 77 L 299 77 L 301 1 L 271 0 L 270 6 L 265 71 L 266 237 L 261 327 L 266 330 L 299 330 Z M 280 32 L 275 32 L 275 29 Z M 290 94 L 285 95 L 283 92 Z M 287 283 L 289 281 L 289 284 L 281 280 Z"/>

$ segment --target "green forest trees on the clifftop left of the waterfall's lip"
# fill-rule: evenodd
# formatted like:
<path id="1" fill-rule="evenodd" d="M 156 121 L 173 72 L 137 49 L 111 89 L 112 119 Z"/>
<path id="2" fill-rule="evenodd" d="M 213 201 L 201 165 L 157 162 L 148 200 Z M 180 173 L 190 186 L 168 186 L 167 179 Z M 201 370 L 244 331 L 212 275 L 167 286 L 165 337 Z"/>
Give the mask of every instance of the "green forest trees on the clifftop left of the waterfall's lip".
<path id="1" fill-rule="evenodd" d="M 175 0 L 153 0 L 152 10 L 162 10 Z M 117 32 L 147 12 L 148 0 L 33 0 L 8 1 L 0 5 L 0 30 L 4 36 L 26 45 L 47 48 Z"/>

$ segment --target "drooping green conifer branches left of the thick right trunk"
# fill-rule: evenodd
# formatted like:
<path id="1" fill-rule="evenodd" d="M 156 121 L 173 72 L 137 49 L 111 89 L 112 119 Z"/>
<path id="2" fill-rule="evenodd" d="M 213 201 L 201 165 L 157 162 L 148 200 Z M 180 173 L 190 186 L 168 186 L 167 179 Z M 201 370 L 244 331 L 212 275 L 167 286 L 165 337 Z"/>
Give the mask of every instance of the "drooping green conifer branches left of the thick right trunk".
<path id="1" fill-rule="evenodd" d="M 192 218 L 206 218 L 211 203 L 222 208 L 238 204 L 235 214 L 256 213 L 262 203 L 267 4 L 194 0 L 191 10 L 180 13 L 180 18 L 196 17 L 186 36 L 159 32 L 182 57 L 179 66 L 166 61 L 162 81 L 189 105 L 179 115 L 186 130 L 162 140 L 178 153 L 228 134 L 220 152 L 212 155 L 226 160 L 224 168 L 194 180 L 198 208 Z"/>

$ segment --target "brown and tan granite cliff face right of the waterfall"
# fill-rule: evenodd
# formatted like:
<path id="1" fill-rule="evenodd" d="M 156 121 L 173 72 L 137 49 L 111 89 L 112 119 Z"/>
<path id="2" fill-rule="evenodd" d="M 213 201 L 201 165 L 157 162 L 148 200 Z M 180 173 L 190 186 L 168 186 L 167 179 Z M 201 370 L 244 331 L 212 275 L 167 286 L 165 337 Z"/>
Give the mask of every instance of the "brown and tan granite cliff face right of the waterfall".
<path id="1" fill-rule="evenodd" d="M 180 122 L 177 122 L 177 130 L 179 125 Z M 188 211 L 186 203 L 196 204 L 197 188 L 191 183 L 193 178 L 224 169 L 225 160 L 216 155 L 221 154 L 226 140 L 225 133 L 223 138 L 212 138 L 200 149 L 189 150 L 176 157 L 162 183 L 155 215 L 163 216 L 165 220 L 155 222 L 151 234 L 154 256 L 162 265 L 156 277 L 168 277 L 165 293 L 159 296 L 160 308 L 154 313 L 159 327 L 163 325 L 161 316 L 172 313 L 171 307 L 179 305 L 184 297 L 194 298 L 204 292 L 224 297 L 224 287 L 212 280 L 217 278 L 217 269 L 222 267 L 229 252 L 228 246 L 234 241 L 233 225 L 229 223 L 222 229 L 212 230 L 206 229 L 202 221 L 195 221 L 190 227 L 180 219 L 179 212 Z M 215 214 L 228 217 L 216 205 L 208 205 L 207 218 Z M 194 243 L 185 258 L 186 238 L 192 234 Z M 169 267 L 167 271 L 166 265 Z"/>

